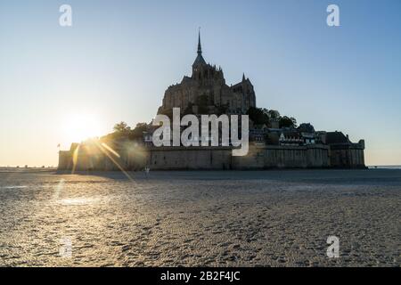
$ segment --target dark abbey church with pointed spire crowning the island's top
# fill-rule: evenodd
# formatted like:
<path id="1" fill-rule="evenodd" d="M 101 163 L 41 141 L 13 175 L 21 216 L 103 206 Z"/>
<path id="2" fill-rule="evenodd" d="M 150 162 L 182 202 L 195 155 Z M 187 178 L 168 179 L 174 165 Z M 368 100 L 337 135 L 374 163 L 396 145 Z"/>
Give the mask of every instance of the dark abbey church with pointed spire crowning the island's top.
<path id="1" fill-rule="evenodd" d="M 250 79 L 242 75 L 241 82 L 226 85 L 223 70 L 203 59 L 200 34 L 192 76 L 184 76 L 181 83 L 168 87 L 158 113 L 168 114 L 173 108 L 180 108 L 184 113 L 232 115 L 246 114 L 250 107 L 256 107 Z"/>

